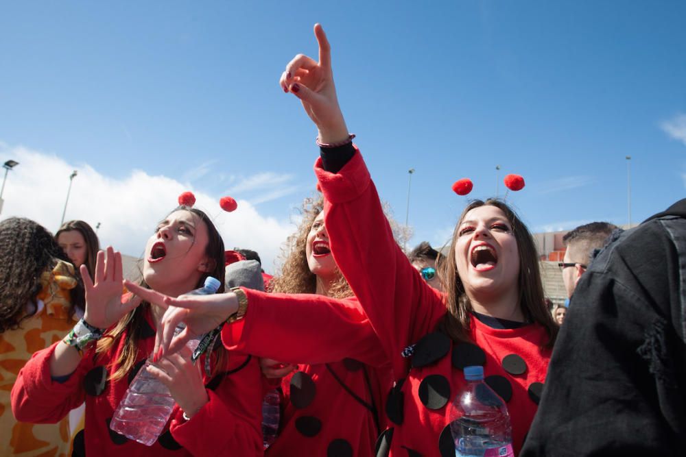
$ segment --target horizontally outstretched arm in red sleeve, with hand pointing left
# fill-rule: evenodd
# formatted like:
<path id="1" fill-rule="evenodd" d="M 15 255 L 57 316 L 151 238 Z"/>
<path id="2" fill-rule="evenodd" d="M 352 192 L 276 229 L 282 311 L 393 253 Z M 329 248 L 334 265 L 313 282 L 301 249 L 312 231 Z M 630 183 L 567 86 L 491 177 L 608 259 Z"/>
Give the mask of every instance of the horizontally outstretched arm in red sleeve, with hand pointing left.
<path id="1" fill-rule="evenodd" d="M 198 336 L 238 310 L 235 293 L 171 299 L 127 285 L 146 301 L 169 307 L 162 319 L 163 332 L 184 322 L 189 334 Z M 283 362 L 315 364 L 355 358 L 372 366 L 386 364 L 379 338 L 355 299 L 241 290 L 247 299 L 244 314 L 222 330 L 222 341 L 228 349 Z M 169 351 L 179 347 L 178 341 Z M 161 345 L 163 352 L 169 347 L 166 341 Z"/>

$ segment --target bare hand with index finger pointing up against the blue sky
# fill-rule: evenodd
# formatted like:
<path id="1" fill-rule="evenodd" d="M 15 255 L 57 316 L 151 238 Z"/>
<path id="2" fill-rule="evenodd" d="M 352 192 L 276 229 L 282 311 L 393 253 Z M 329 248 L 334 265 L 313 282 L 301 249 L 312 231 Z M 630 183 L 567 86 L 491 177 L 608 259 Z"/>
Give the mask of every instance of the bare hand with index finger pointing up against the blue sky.
<path id="1" fill-rule="evenodd" d="M 319 62 L 298 54 L 288 62 L 279 84 L 303 102 L 303 108 L 319 129 L 321 143 L 339 143 L 348 138 L 348 127 L 338 106 L 331 71 L 331 46 L 320 24 L 314 25 L 319 43 Z"/>

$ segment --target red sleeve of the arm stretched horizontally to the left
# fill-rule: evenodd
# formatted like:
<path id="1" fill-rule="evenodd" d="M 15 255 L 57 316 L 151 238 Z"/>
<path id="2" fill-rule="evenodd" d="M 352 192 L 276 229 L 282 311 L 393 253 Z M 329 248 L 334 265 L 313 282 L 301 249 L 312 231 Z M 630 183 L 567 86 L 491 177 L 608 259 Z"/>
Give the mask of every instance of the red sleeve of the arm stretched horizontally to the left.
<path id="1" fill-rule="evenodd" d="M 248 297 L 246 316 L 222 330 L 228 349 L 292 363 L 354 358 L 379 367 L 388 360 L 355 299 L 243 291 Z"/>

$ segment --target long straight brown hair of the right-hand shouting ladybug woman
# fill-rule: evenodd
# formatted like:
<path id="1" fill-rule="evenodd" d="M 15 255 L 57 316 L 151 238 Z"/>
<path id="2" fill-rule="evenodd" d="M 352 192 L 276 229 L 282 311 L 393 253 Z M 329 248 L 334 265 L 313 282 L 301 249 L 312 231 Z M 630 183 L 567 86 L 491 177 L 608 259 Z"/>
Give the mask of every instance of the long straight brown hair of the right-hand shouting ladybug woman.
<path id="1" fill-rule="evenodd" d="M 521 311 L 524 318 L 528 321 L 543 325 L 549 336 L 545 346 L 552 347 L 557 337 L 558 325 L 553 321 L 545 306 L 543 282 L 541 281 L 541 270 L 539 268 L 539 258 L 538 254 L 536 254 L 534 238 L 512 208 L 499 199 L 471 201 L 460 215 L 460 220 L 453 232 L 447 260 L 442 264 L 442 277 L 445 281 L 446 307 L 448 312 L 440 323 L 440 327 L 454 341 L 469 341 L 469 319 L 471 319 L 470 311 L 472 306 L 469 297 L 464 292 L 464 285 L 462 280 L 460 280 L 460 275 L 458 275 L 455 262 L 455 245 L 460 233 L 460 224 L 462 224 L 464 217 L 469 211 L 480 206 L 495 206 L 499 208 L 504 212 L 510 225 L 512 225 L 514 239 L 517 240 L 517 251 L 519 251 L 519 278 L 517 286 L 519 286 Z"/>

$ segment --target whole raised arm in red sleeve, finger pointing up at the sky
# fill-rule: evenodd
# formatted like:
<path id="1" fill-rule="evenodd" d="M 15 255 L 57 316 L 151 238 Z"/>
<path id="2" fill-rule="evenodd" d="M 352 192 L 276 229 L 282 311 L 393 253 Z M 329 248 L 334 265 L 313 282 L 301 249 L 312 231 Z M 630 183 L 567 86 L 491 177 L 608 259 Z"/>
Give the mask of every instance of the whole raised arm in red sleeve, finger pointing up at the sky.
<path id="1" fill-rule="evenodd" d="M 445 306 L 394 240 L 362 156 L 351 144 L 333 84 L 331 47 L 320 25 L 314 32 L 319 62 L 296 55 L 280 84 L 300 99 L 318 129 L 322 158 L 316 173 L 336 263 L 394 368 L 404 369 L 402 349 L 434 330 Z"/>

